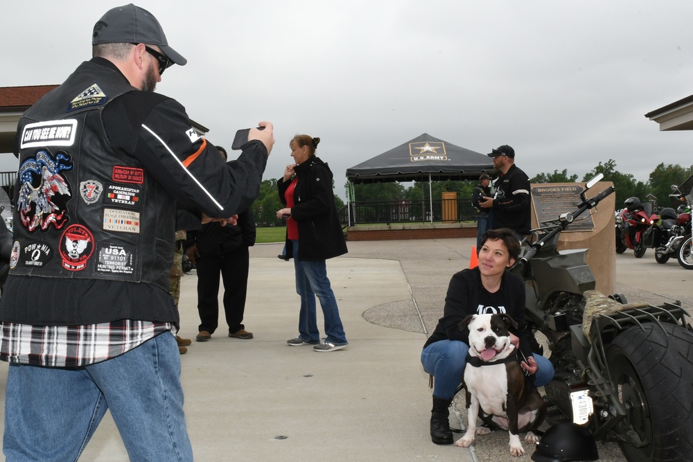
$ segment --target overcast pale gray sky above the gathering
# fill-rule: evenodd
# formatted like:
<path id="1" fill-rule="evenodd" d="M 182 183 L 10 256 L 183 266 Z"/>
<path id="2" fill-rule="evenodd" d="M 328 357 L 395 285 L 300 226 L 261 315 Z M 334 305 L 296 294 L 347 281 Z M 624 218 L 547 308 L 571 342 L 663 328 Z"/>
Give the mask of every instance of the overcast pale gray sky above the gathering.
<path id="1" fill-rule="evenodd" d="M 0 86 L 61 83 L 91 57 L 119 1 L 3 1 Z M 690 0 L 141 0 L 188 59 L 157 91 L 230 147 L 267 120 L 265 179 L 297 133 L 345 170 L 422 133 L 477 152 L 515 148 L 532 177 L 599 161 L 647 181 L 693 164 L 693 132 L 644 114 L 693 94 Z"/>

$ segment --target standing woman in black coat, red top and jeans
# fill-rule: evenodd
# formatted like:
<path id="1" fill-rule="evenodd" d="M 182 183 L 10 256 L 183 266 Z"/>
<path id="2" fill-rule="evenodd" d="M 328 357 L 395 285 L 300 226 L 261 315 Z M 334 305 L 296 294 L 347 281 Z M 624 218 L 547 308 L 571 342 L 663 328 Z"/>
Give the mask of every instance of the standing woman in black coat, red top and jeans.
<path id="1" fill-rule="evenodd" d="M 327 278 L 325 260 L 347 253 L 342 226 L 332 192 L 332 172 L 315 149 L 319 138 L 296 135 L 289 143 L 295 163 L 286 166 L 278 182 L 279 199 L 286 206 L 277 217 L 286 217 L 286 254 L 294 257 L 296 292 L 301 296 L 299 335 L 291 346 L 314 345 L 315 351 L 334 351 L 349 343 Z M 325 318 L 326 339 L 320 343 L 315 296 Z"/>

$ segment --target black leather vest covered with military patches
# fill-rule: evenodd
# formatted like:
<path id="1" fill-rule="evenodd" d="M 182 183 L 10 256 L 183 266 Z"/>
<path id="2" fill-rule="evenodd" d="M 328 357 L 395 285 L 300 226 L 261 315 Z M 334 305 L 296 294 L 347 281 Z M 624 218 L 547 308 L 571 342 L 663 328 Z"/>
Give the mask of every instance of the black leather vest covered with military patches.
<path id="1" fill-rule="evenodd" d="M 175 200 L 137 159 L 111 148 L 100 117 L 133 89 L 116 71 L 84 62 L 22 116 L 10 274 L 168 292 Z"/>

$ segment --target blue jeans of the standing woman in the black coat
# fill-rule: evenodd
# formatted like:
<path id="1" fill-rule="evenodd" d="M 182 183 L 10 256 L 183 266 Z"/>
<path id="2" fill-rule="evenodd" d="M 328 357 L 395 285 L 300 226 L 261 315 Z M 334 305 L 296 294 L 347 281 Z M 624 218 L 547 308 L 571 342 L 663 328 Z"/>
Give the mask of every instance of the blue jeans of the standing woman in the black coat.
<path id="1" fill-rule="evenodd" d="M 337 300 L 327 278 L 325 260 L 299 260 L 299 241 L 292 240 L 294 247 L 294 269 L 296 272 L 296 293 L 301 296 L 299 312 L 299 336 L 308 343 L 320 343 L 320 331 L 317 329 L 315 296 L 320 300 L 322 314 L 325 318 L 326 341 L 343 345 L 347 343 L 344 326 L 337 308 Z"/>

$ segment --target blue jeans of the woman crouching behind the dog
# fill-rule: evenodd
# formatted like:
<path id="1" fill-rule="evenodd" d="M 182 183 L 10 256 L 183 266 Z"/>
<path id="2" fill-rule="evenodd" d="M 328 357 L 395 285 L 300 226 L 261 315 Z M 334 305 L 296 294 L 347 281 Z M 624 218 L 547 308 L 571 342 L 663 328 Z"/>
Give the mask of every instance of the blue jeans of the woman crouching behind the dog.
<path id="1" fill-rule="evenodd" d="M 455 389 L 462 382 L 468 350 L 469 346 L 459 340 L 439 340 L 423 348 L 423 370 L 435 377 L 433 396 L 441 400 L 450 400 L 455 396 Z M 534 385 L 541 387 L 554 377 L 554 366 L 548 359 L 536 353 L 534 360 L 539 366 L 534 375 Z"/>

